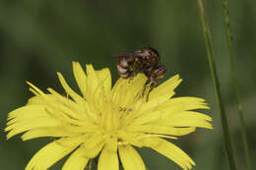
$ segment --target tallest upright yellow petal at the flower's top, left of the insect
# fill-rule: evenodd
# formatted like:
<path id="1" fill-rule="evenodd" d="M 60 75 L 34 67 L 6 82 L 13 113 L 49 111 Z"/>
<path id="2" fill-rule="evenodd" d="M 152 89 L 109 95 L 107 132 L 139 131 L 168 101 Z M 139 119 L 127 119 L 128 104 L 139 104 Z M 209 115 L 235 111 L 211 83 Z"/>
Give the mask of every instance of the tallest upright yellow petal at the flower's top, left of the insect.
<path id="1" fill-rule="evenodd" d="M 73 62 L 73 73 L 81 92 L 86 96 L 87 75 L 78 62 Z"/>

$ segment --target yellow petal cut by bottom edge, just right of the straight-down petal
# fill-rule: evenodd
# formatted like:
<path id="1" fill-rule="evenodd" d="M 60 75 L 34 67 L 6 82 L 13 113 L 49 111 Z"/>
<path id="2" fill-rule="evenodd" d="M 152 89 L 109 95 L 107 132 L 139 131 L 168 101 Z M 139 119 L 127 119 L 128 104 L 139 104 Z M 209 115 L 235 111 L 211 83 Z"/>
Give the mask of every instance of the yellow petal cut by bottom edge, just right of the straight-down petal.
<path id="1" fill-rule="evenodd" d="M 124 170 L 146 170 L 140 154 L 131 145 L 119 145 L 118 152 Z"/>

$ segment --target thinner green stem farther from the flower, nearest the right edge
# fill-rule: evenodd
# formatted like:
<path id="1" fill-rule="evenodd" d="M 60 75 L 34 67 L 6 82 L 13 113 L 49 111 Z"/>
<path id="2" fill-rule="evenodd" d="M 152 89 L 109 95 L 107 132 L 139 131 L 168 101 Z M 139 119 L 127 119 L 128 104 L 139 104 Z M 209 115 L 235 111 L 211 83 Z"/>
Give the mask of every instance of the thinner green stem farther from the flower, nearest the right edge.
<path id="1" fill-rule="evenodd" d="M 233 45 L 232 45 L 233 44 L 232 43 L 232 33 L 230 30 L 230 24 L 229 24 L 229 18 L 228 18 L 228 5 L 227 5 L 227 0 L 222 0 L 222 1 L 223 1 L 223 10 L 224 10 L 224 28 L 225 28 L 226 40 L 227 40 L 227 44 L 228 44 L 231 77 L 232 77 L 232 83 L 234 85 L 234 90 L 235 90 L 235 98 L 236 98 L 238 115 L 240 118 L 244 152 L 245 152 L 248 170 L 252 170 L 251 156 L 250 156 L 250 152 L 249 152 L 249 146 L 248 146 L 247 135 L 246 135 L 246 127 L 245 127 L 245 123 L 244 123 L 244 119 L 243 119 L 242 104 L 240 102 L 239 89 L 238 89 L 237 79 L 236 79 L 236 71 L 235 71 L 235 65 L 234 65 L 234 50 L 233 50 Z"/>

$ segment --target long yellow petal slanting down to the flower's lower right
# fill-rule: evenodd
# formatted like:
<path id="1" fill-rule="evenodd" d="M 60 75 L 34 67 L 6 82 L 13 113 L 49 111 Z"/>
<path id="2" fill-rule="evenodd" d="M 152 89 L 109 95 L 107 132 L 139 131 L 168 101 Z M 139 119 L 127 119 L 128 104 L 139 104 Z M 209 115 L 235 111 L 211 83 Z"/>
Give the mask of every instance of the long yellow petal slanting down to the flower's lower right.
<path id="1" fill-rule="evenodd" d="M 148 138 L 144 142 L 147 146 L 174 161 L 184 170 L 191 169 L 192 165 L 195 165 L 195 162 L 184 151 L 171 142 L 166 142 L 160 138 Z"/>

